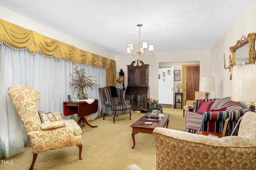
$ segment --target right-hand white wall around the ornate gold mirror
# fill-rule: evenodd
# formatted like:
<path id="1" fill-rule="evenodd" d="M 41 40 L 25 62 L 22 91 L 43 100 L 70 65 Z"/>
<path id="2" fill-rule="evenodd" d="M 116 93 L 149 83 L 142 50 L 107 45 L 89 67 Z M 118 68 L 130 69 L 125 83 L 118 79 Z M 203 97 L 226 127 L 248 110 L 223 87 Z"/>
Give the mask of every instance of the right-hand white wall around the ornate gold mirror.
<path id="1" fill-rule="evenodd" d="M 256 0 L 252 1 L 246 11 L 236 20 L 227 33 L 213 47 L 211 51 L 212 76 L 215 77 L 216 97 L 231 96 L 232 80 L 229 80 L 230 72 L 224 69 L 224 53 L 226 57 L 226 66 L 228 66 L 228 57 L 231 54 L 229 47 L 234 46 L 242 35 L 247 37 L 249 33 L 256 32 Z M 248 49 L 249 51 L 249 49 Z M 249 58 L 249 55 L 248 55 Z"/>

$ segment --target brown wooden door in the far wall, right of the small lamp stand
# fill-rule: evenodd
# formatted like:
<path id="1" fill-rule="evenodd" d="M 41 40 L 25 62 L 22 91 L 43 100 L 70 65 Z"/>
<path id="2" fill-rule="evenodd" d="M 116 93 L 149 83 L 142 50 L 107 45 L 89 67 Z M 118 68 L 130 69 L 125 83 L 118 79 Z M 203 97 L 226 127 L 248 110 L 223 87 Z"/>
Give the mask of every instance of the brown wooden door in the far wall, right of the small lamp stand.
<path id="1" fill-rule="evenodd" d="M 199 64 L 182 65 L 182 74 L 182 92 L 184 94 L 183 102 L 186 100 L 195 100 L 195 91 L 199 91 Z"/>

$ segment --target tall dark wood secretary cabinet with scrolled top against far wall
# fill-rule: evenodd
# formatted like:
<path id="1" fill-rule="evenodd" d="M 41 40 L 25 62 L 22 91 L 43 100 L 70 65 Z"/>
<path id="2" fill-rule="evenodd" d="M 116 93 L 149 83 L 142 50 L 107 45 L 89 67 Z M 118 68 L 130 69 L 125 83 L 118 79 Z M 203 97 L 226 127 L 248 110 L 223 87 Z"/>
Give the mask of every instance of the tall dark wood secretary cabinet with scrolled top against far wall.
<path id="1" fill-rule="evenodd" d="M 136 63 L 137 62 L 137 63 Z M 125 99 L 130 100 L 132 110 L 148 111 L 148 71 L 149 64 L 142 61 L 133 61 L 128 67 L 128 86 L 125 91 Z"/>

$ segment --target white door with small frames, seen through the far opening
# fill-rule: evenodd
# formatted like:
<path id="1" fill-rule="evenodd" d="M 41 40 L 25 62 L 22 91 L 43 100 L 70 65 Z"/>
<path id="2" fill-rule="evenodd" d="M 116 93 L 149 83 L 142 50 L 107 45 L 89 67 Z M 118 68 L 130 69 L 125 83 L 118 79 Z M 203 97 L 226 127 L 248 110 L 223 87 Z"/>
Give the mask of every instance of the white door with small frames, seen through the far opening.
<path id="1" fill-rule="evenodd" d="M 158 68 L 158 102 L 173 105 L 173 73 L 172 68 Z"/>

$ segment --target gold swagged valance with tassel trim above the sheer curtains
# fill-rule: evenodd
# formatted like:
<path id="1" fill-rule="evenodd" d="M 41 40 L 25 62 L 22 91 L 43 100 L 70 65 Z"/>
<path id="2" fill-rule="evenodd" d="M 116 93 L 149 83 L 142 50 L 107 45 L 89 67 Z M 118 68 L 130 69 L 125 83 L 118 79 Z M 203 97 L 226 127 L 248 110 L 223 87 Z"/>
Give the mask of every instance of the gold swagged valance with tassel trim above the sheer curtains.
<path id="1" fill-rule="evenodd" d="M 106 68 L 107 86 L 116 85 L 116 61 L 0 19 L 0 44 L 2 43 L 16 50 L 27 49 L 33 55 L 41 53 L 45 57 L 55 57 L 56 60 L 64 59 L 72 63 Z"/>

